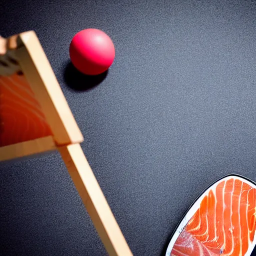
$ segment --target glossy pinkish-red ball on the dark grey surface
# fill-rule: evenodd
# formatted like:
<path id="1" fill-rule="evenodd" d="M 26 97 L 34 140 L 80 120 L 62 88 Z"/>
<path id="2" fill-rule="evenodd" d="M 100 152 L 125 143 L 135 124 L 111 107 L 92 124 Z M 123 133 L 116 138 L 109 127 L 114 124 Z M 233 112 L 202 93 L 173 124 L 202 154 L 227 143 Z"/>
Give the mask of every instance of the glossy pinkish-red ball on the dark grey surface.
<path id="1" fill-rule="evenodd" d="M 74 35 L 69 46 L 73 65 L 84 74 L 100 74 L 114 60 L 114 44 L 101 30 L 87 28 Z"/>

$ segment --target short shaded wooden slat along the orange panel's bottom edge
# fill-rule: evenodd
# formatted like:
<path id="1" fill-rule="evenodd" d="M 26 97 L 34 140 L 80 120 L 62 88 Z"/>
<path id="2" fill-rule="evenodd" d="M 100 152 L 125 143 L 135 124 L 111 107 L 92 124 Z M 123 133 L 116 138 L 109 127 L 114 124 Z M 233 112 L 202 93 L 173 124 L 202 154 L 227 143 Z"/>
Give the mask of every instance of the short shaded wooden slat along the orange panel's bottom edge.
<path id="1" fill-rule="evenodd" d="M 1 146 L 0 161 L 10 160 L 55 149 L 56 145 L 52 136 L 41 137 L 33 140 L 19 142 L 17 144 Z"/>

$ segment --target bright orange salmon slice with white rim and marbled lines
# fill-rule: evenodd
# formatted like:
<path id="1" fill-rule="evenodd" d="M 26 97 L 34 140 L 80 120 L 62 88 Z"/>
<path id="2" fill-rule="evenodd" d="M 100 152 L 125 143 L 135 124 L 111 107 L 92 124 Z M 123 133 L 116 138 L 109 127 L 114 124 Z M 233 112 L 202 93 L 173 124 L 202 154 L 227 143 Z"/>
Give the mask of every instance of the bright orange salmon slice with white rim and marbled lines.
<path id="1" fill-rule="evenodd" d="M 177 226 L 166 256 L 245 256 L 256 244 L 256 185 L 226 176 L 193 203 Z"/>

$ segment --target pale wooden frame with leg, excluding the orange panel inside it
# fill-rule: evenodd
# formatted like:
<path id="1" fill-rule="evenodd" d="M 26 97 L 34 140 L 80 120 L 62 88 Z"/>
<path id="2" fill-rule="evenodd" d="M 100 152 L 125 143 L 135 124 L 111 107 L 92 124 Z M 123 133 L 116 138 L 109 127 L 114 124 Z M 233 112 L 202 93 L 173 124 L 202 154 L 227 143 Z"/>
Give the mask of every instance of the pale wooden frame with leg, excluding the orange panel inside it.
<path id="1" fill-rule="evenodd" d="M 7 39 L 0 37 L 0 77 L 19 70 L 24 73 L 52 134 L 0 146 L 0 160 L 59 150 L 108 254 L 131 256 L 125 238 L 79 145 L 83 140 L 82 134 L 33 31 Z"/>

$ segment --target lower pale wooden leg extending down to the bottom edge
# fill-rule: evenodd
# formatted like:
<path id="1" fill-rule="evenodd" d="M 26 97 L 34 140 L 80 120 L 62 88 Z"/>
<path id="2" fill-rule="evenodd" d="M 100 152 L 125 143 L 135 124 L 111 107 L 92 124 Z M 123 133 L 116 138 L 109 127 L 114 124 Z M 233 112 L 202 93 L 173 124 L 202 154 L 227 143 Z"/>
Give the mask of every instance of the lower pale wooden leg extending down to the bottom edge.
<path id="1" fill-rule="evenodd" d="M 58 150 L 108 254 L 132 256 L 80 144 L 61 146 Z"/>

